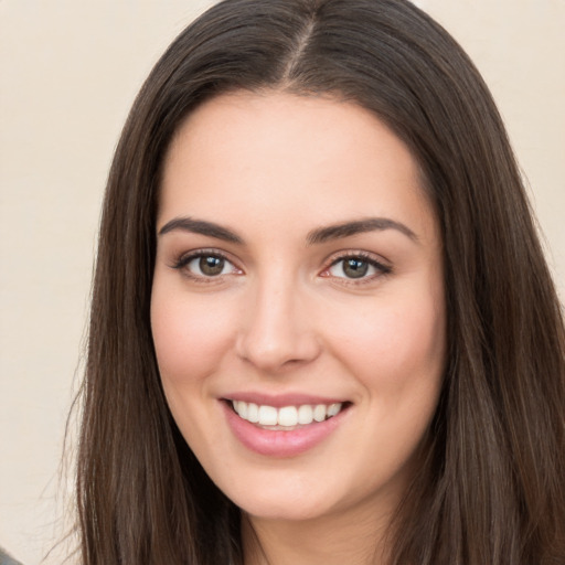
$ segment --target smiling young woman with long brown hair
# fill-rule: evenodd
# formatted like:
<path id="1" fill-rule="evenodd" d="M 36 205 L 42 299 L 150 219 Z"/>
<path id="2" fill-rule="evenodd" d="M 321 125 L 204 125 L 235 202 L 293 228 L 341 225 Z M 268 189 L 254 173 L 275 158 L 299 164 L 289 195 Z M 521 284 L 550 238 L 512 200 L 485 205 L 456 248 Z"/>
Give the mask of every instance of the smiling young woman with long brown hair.
<path id="1" fill-rule="evenodd" d="M 563 563 L 564 353 L 450 36 L 398 0 L 222 2 L 110 171 L 83 563 Z"/>

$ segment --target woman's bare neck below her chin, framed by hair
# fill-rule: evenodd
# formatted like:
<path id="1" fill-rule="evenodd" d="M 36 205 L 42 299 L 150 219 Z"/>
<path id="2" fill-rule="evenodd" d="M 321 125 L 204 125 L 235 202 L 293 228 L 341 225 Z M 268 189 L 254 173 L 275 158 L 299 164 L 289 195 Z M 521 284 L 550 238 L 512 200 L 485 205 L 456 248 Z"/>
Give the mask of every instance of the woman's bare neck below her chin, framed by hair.
<path id="1" fill-rule="evenodd" d="M 384 565 L 390 515 L 340 512 L 312 520 L 243 514 L 245 565 Z"/>

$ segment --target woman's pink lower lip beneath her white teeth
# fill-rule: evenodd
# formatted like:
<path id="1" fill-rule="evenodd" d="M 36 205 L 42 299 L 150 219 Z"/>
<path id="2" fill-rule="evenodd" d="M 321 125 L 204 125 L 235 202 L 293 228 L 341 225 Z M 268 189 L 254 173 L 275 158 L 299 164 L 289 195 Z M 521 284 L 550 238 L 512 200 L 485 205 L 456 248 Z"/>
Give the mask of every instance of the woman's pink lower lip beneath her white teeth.
<path id="1" fill-rule="evenodd" d="M 315 422 L 292 430 L 264 429 L 241 418 L 223 401 L 227 424 L 235 437 L 256 454 L 269 457 L 295 457 L 321 444 L 340 425 L 347 409 L 323 422 Z"/>

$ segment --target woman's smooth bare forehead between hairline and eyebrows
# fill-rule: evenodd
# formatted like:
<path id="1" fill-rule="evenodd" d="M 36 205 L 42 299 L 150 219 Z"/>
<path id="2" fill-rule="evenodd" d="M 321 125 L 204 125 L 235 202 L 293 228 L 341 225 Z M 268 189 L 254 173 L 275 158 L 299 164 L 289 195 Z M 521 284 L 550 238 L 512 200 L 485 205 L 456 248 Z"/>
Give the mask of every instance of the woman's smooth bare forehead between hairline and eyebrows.
<path id="1" fill-rule="evenodd" d="M 242 222 L 271 223 L 385 214 L 422 224 L 431 214 L 416 160 L 374 114 L 273 92 L 206 102 L 182 124 L 166 158 L 161 223 L 175 214 L 231 223 L 236 211 Z"/>

